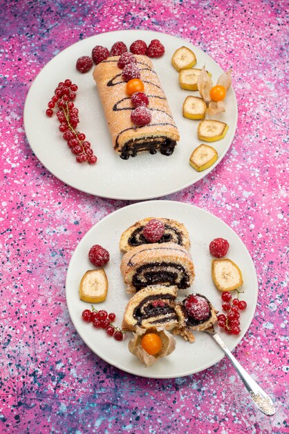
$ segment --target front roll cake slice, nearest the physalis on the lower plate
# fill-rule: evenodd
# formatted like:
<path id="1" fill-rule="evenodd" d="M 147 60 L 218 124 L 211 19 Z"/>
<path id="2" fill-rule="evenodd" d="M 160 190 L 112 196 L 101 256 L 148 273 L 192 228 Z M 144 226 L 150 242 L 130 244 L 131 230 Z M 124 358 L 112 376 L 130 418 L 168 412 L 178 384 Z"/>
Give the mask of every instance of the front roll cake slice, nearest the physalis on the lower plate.
<path id="1" fill-rule="evenodd" d="M 134 294 L 124 311 L 122 330 L 136 331 L 137 327 L 174 329 L 176 314 L 176 286 L 151 285 Z"/>

